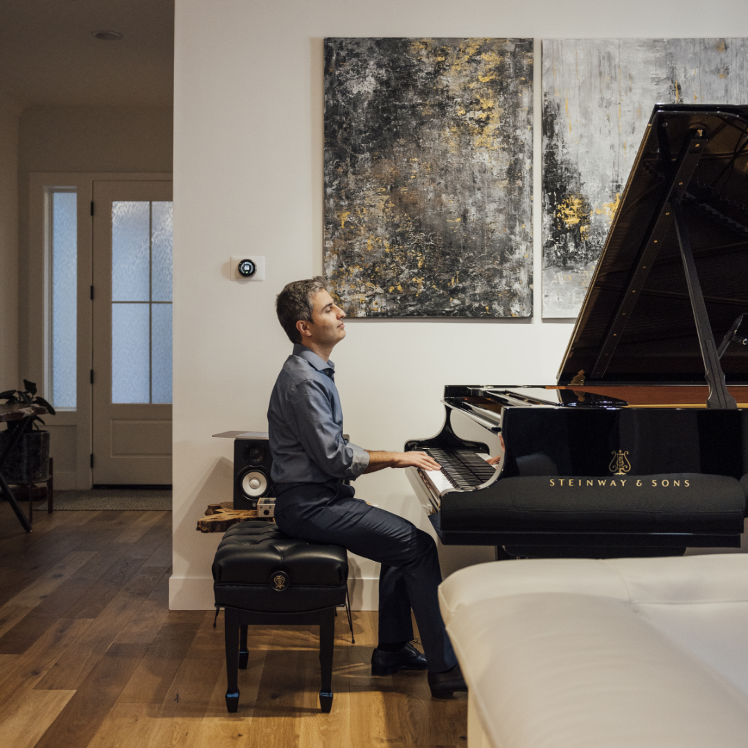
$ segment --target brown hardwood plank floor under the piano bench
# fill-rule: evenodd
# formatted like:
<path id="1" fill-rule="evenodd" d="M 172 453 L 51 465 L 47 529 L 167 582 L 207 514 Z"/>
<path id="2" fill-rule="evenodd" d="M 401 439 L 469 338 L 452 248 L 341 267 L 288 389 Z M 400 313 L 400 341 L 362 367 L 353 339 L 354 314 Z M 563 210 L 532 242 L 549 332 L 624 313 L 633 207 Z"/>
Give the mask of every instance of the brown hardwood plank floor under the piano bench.
<path id="1" fill-rule="evenodd" d="M 12 748 L 465 747 L 467 697 L 370 675 L 376 614 L 336 619 L 331 714 L 316 627 L 251 627 L 237 714 L 223 615 L 168 610 L 171 512 L 34 515 L 0 502 L 0 735 Z M 314 629 L 314 630 L 313 630 Z"/>

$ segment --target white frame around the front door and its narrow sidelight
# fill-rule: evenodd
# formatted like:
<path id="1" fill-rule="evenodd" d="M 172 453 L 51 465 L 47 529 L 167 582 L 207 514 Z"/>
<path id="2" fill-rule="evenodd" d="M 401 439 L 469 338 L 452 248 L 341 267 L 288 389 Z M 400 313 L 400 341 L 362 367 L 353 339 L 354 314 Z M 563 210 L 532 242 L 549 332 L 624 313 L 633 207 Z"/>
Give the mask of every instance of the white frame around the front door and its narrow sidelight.
<path id="1" fill-rule="evenodd" d="M 37 382 L 41 396 L 49 392 L 49 240 L 46 234 L 48 190 L 53 187 L 74 187 L 78 194 L 78 344 L 76 409 L 57 411 L 47 421 L 54 430 L 75 429 L 76 460 L 74 470 L 55 469 L 55 487 L 91 488 L 91 452 L 93 449 L 93 407 L 91 370 L 93 369 L 93 319 L 91 286 L 93 285 L 93 183 L 163 182 L 172 180 L 171 173 L 162 172 L 32 172 L 29 174 L 29 243 L 28 243 L 28 361 L 24 378 Z M 43 272 L 34 272 L 43 269 Z"/>

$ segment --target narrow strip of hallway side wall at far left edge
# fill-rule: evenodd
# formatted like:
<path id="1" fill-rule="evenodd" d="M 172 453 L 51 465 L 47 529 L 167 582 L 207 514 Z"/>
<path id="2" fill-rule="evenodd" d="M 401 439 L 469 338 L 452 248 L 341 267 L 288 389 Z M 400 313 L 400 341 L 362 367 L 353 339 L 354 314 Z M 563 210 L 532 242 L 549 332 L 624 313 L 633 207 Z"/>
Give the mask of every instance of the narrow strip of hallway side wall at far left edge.
<path id="1" fill-rule="evenodd" d="M 0 93 L 0 391 L 18 378 L 19 102 Z"/>

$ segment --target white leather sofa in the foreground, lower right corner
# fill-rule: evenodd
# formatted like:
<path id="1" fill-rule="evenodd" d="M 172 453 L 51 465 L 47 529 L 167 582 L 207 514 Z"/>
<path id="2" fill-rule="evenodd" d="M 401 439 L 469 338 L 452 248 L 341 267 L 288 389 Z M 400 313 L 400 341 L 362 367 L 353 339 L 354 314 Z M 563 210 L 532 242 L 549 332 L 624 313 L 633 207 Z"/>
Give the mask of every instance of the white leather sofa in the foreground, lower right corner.
<path id="1" fill-rule="evenodd" d="M 469 748 L 748 747 L 748 554 L 492 562 L 439 595 Z"/>

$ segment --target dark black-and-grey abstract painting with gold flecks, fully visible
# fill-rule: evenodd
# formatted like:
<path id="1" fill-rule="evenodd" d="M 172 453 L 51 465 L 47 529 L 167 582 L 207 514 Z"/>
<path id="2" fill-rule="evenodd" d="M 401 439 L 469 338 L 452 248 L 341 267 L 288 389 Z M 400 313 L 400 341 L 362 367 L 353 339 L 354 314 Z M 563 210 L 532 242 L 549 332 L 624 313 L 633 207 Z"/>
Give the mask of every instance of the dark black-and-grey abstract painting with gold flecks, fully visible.
<path id="1" fill-rule="evenodd" d="M 349 316 L 532 315 L 533 40 L 325 40 L 325 275 Z"/>

